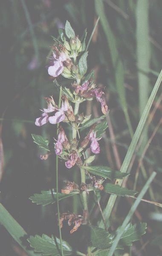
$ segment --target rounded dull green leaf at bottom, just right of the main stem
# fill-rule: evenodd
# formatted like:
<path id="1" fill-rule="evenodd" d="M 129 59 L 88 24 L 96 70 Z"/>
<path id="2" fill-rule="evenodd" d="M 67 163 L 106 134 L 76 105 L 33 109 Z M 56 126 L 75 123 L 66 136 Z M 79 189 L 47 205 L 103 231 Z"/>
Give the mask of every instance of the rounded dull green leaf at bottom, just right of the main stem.
<path id="1" fill-rule="evenodd" d="M 113 242 L 111 239 L 111 234 L 100 227 L 91 227 L 90 230 L 90 239 L 94 247 L 100 249 L 107 249 L 110 247 L 110 244 Z"/>

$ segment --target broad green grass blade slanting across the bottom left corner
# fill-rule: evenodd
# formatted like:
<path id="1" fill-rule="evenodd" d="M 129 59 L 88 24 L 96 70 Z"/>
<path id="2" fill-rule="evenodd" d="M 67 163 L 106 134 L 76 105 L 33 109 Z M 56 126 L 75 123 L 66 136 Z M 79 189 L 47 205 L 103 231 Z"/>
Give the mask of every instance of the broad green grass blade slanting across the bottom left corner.
<path id="1" fill-rule="evenodd" d="M 40 253 L 34 253 L 33 250 L 26 249 L 26 246 L 24 246 L 24 241 L 26 241 L 27 233 L 25 230 L 18 224 L 17 221 L 10 215 L 10 213 L 3 207 L 2 204 L 0 204 L 0 224 L 2 224 L 6 230 L 10 233 L 12 238 L 23 248 L 23 250 L 28 253 L 29 256 L 41 256 Z M 28 243 L 26 242 L 26 245 Z"/>

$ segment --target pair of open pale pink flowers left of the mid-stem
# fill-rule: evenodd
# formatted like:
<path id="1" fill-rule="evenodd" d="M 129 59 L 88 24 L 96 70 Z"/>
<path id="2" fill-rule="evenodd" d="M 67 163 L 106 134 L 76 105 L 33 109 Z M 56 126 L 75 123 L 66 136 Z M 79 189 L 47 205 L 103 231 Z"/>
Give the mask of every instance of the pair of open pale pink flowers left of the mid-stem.
<path id="1" fill-rule="evenodd" d="M 61 109 L 58 109 L 58 107 L 55 105 L 55 102 L 53 98 L 46 98 L 46 101 L 48 103 L 48 108 L 43 108 L 42 116 L 38 117 L 35 120 L 35 125 L 41 126 L 46 124 L 48 121 L 51 124 L 57 124 L 64 120 L 65 118 L 65 111 L 67 111 L 67 106 L 62 102 Z M 49 116 L 48 113 L 55 112 L 53 116 Z"/>

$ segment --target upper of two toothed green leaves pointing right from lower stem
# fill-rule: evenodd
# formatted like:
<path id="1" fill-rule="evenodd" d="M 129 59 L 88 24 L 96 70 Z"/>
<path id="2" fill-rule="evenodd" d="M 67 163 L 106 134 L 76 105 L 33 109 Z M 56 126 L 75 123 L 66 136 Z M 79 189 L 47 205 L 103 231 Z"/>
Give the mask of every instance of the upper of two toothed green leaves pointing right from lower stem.
<path id="1" fill-rule="evenodd" d="M 122 173 L 118 171 L 113 171 L 110 167 L 107 166 L 81 166 L 82 169 L 86 169 L 88 172 L 98 175 L 100 177 L 113 179 L 122 179 L 127 177 L 127 173 Z"/>

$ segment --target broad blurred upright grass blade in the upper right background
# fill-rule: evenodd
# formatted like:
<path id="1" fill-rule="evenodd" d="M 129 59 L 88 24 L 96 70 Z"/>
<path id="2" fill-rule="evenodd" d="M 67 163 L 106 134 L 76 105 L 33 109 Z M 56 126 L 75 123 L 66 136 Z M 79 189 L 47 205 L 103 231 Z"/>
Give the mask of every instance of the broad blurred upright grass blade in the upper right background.
<path id="1" fill-rule="evenodd" d="M 149 41 L 149 1 L 138 0 L 136 6 L 136 42 L 137 42 L 137 67 L 139 83 L 139 112 L 140 116 L 148 102 L 149 93 L 149 76 L 150 68 L 150 41 Z M 143 131 L 143 145 L 148 141 L 148 129 Z M 143 148 L 143 147 L 142 147 Z M 141 149 L 142 149 L 141 148 Z"/>

